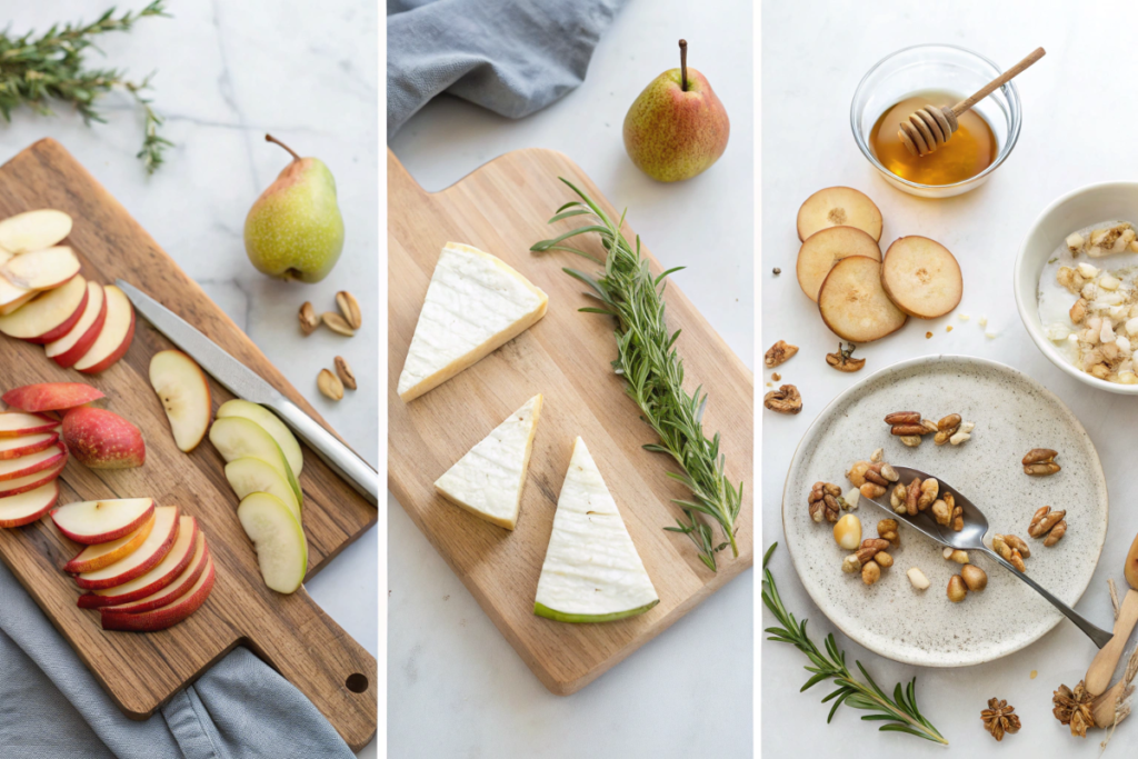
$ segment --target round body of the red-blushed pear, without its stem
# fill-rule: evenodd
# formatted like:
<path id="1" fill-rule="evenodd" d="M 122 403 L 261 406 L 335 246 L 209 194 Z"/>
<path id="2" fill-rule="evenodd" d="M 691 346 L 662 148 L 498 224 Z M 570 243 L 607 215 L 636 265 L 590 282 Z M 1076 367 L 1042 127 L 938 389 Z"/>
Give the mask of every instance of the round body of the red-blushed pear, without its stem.
<path id="1" fill-rule="evenodd" d="M 660 182 L 678 182 L 711 167 L 727 149 L 731 122 L 707 77 L 687 68 L 660 74 L 625 116 L 625 150 L 636 167 Z"/>

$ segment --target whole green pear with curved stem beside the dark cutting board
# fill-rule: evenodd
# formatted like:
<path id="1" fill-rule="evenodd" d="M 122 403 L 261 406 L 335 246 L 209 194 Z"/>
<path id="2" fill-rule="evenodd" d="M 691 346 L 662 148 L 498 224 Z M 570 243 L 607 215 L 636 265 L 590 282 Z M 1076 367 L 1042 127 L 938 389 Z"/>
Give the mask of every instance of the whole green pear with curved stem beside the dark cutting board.
<path id="1" fill-rule="evenodd" d="M 336 180 L 316 158 L 302 158 L 287 145 L 265 135 L 292 156 L 245 217 L 245 251 L 270 277 L 319 282 L 328 277 L 344 249 L 344 217 L 336 204 Z"/>

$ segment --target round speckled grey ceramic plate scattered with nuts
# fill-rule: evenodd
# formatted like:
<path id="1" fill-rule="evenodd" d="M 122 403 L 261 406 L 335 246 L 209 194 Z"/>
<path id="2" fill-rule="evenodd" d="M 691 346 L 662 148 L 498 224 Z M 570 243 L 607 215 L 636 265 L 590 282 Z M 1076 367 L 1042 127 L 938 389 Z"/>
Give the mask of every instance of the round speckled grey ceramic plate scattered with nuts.
<path id="1" fill-rule="evenodd" d="M 976 422 L 959 447 L 935 446 L 932 437 L 905 447 L 882 420 L 894 411 L 920 411 L 933 419 L 958 413 Z M 964 489 L 988 517 L 988 541 L 1013 533 L 1031 546 L 1028 571 L 1069 604 L 1087 589 L 1106 538 L 1107 495 L 1098 453 L 1074 414 L 1049 390 L 1021 372 L 982 358 L 924 356 L 888 366 L 838 396 L 807 431 L 791 462 L 783 490 L 786 547 L 802 584 L 818 608 L 849 637 L 889 659 L 925 667 L 964 667 L 1030 645 L 1061 620 L 1031 588 L 983 556 L 988 588 L 959 604 L 946 597 L 958 564 L 941 547 L 901 527 L 894 566 L 867 586 L 843 575 L 847 551 L 834 543 L 832 526 L 807 513 L 810 486 L 824 480 L 852 487 L 844 472 L 883 447 L 885 460 L 940 475 Z M 1028 477 L 1020 460 L 1031 448 L 1059 452 L 1063 470 Z M 966 488 L 966 489 L 965 489 Z M 1046 548 L 1028 537 L 1041 505 L 1067 510 L 1066 536 Z M 888 514 L 872 504 L 856 512 L 866 537 Z M 905 576 L 920 567 L 932 586 L 916 591 Z"/>

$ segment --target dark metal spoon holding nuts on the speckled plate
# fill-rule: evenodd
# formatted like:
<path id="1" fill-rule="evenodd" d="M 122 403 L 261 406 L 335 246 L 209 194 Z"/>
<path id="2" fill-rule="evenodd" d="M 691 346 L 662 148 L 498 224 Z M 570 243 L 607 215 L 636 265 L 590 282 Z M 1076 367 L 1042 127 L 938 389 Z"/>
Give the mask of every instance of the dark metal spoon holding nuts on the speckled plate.
<path id="1" fill-rule="evenodd" d="M 909 469 L 908 467 L 897 467 L 893 465 L 897 473 L 900 475 L 901 482 L 910 482 L 914 478 L 921 478 L 922 481 L 932 477 L 932 475 L 926 475 L 916 469 Z M 935 478 L 940 482 L 940 489 L 950 492 L 956 497 L 956 505 L 964 509 L 964 529 L 959 533 L 955 531 L 950 527 L 942 527 L 937 523 L 937 520 L 932 518 L 931 511 L 918 512 L 916 517 L 909 517 L 907 513 L 897 513 L 890 508 L 888 503 L 880 503 L 873 498 L 866 498 L 869 503 L 884 509 L 889 512 L 889 515 L 899 521 L 904 521 L 906 525 L 921 533 L 925 537 L 940 543 L 941 545 L 959 548 L 962 551 L 979 551 L 987 555 L 992 561 L 997 562 L 1004 569 L 1008 570 L 1029 586 L 1034 589 L 1039 595 L 1047 599 L 1053 607 L 1058 609 L 1066 616 L 1067 619 L 1073 621 L 1079 629 L 1087 634 L 1087 636 L 1095 642 L 1095 645 L 1102 649 L 1106 645 L 1113 637 L 1113 633 L 1100 629 L 1087 620 L 1082 614 L 1066 605 L 1054 595 L 1052 595 L 1047 588 L 1041 586 L 1036 580 L 1031 579 L 1011 563 L 1008 563 L 1001 555 L 984 545 L 983 538 L 988 534 L 988 519 L 984 517 L 983 512 L 980 511 L 964 494 L 957 488 L 953 487 L 939 477 Z M 887 490 L 888 493 L 888 490 Z M 865 496 L 861 496 L 865 497 Z"/>

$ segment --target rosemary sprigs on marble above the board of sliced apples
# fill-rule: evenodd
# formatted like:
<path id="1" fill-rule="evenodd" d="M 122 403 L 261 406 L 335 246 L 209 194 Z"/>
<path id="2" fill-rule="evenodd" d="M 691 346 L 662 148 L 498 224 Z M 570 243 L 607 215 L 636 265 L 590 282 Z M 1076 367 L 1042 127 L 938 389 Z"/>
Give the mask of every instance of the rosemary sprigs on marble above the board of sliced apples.
<path id="1" fill-rule="evenodd" d="M 162 118 L 141 92 L 150 85 L 150 76 L 141 82 L 125 79 L 114 68 L 85 68 L 83 56 L 94 47 L 92 38 L 106 32 L 129 32 L 140 18 L 167 16 L 164 0 L 154 0 L 146 8 L 115 16 L 112 7 L 90 24 L 53 25 L 40 36 L 27 32 L 11 36 L 0 32 L 0 115 L 11 121 L 13 110 L 27 106 L 41 116 L 53 115 L 52 100 L 69 102 L 88 125 L 105 122 L 96 109 L 96 100 L 118 88 L 129 92 L 141 106 L 145 138 L 138 157 L 147 173 L 162 165 L 162 151 L 172 143 L 158 135 Z"/>

